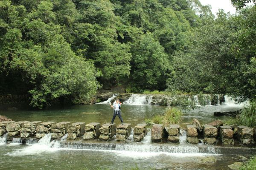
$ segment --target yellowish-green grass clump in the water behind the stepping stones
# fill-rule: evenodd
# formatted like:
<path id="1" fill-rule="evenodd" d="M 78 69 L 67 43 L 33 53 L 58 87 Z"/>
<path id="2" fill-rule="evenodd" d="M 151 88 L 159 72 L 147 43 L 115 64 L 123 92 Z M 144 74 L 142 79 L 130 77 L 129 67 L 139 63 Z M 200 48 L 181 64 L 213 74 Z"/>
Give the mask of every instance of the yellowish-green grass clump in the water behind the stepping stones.
<path id="1" fill-rule="evenodd" d="M 147 125 L 155 124 L 178 124 L 182 120 L 183 113 L 177 108 L 167 108 L 163 116 L 155 115 L 153 119 L 145 119 Z"/>

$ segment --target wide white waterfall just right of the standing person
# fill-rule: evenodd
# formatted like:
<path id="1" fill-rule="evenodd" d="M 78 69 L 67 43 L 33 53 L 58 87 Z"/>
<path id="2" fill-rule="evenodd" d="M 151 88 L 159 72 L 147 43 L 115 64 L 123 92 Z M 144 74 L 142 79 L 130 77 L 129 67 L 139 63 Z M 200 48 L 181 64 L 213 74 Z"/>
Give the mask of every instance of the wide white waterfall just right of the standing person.
<path id="1" fill-rule="evenodd" d="M 153 96 L 152 96 L 153 97 Z M 128 105 L 148 105 L 151 103 L 152 98 L 146 95 L 132 94 L 128 100 L 124 101 L 124 104 Z"/>

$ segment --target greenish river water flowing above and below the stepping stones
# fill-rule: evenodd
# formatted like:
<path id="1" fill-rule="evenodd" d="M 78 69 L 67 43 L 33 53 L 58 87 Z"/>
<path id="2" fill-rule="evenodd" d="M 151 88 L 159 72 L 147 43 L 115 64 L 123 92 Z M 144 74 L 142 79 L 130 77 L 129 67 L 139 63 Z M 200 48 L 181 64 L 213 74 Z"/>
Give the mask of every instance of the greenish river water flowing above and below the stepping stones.
<path id="1" fill-rule="evenodd" d="M 122 105 L 122 117 L 132 126 L 151 119 L 155 114 L 162 114 L 166 107 L 152 106 L 150 96 L 133 96 Z M 109 100 L 110 101 L 110 100 Z M 133 102 L 132 102 L 133 101 Z M 183 115 L 182 126 L 192 122 L 193 118 L 202 123 L 227 117 L 214 117 L 214 111 L 236 111 L 243 107 L 227 98 L 223 105 L 208 105 L 195 109 Z M 135 102 L 137 105 L 135 105 Z M 139 105 L 138 105 L 139 103 Z M 50 110 L 20 110 L 1 111 L 15 121 L 70 121 L 70 122 L 110 122 L 112 109 L 106 104 L 67 106 L 51 108 Z M 119 124 L 119 119 L 115 120 Z M 29 139 L 26 144 L 20 144 L 19 138 L 12 143 L 6 143 L 6 135 L 0 137 L 0 169 L 1 170 L 48 170 L 48 169 L 81 169 L 122 170 L 135 167 L 140 169 L 155 168 L 157 170 L 223 170 L 236 159 L 236 154 L 251 156 L 255 150 L 250 148 L 240 150 L 240 147 L 217 147 L 206 144 L 187 144 L 186 131 L 180 131 L 180 144 L 151 143 L 151 131 L 142 142 L 133 142 L 133 133 L 128 143 L 90 141 L 81 139 L 67 140 L 63 136 L 59 141 L 51 141 L 51 134 L 47 134 L 38 143 Z M 210 156 L 216 159 L 213 164 L 205 164 L 202 159 Z"/>

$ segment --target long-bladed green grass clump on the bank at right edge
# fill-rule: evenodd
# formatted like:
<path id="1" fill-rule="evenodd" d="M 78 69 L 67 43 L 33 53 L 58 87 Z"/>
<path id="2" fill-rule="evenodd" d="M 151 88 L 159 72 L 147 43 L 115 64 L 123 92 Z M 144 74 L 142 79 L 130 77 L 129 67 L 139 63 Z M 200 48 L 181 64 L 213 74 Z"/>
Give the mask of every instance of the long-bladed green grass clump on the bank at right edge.
<path id="1" fill-rule="evenodd" d="M 241 125 L 254 127 L 256 126 L 256 101 L 251 101 L 250 105 L 245 106 L 239 116 Z"/>

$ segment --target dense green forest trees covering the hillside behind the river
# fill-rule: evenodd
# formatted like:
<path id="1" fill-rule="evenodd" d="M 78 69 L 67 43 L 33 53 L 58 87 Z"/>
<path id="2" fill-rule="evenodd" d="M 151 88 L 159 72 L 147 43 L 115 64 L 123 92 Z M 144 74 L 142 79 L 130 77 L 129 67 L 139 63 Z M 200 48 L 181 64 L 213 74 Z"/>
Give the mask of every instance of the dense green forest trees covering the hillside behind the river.
<path id="1" fill-rule="evenodd" d="M 199 0 L 1 0 L 0 95 L 87 102 L 100 88 L 256 97 L 256 6 Z M 255 4 L 255 0 L 253 0 Z"/>

